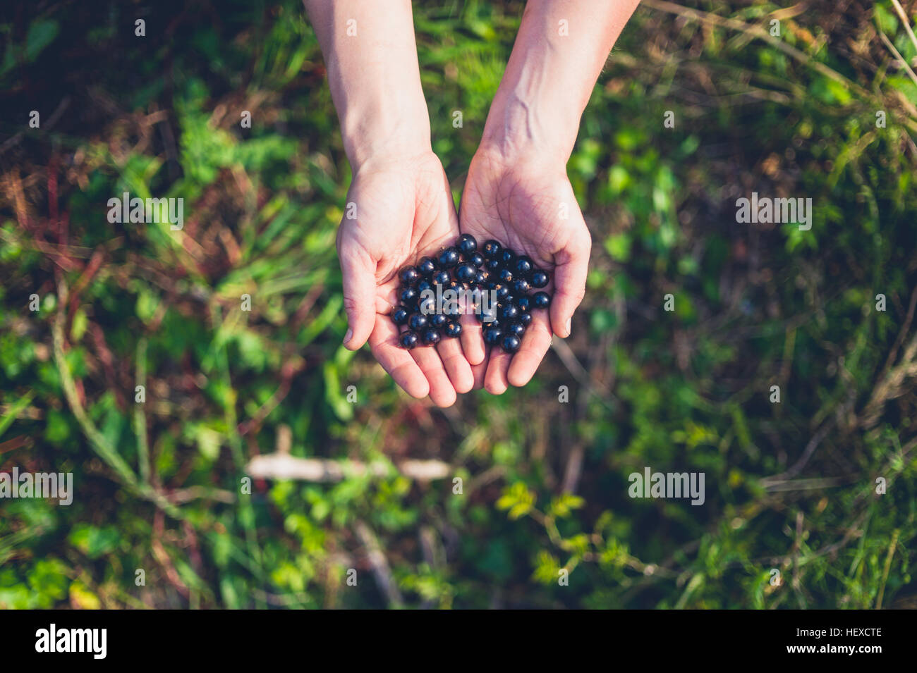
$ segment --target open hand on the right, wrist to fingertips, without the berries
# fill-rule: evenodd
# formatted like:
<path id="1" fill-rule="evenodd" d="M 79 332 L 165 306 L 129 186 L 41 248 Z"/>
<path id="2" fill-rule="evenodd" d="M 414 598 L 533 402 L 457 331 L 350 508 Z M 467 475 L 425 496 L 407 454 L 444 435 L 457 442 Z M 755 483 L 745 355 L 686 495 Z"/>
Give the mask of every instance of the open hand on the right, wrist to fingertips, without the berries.
<path id="1" fill-rule="evenodd" d="M 566 214 L 566 219 L 564 215 Z M 480 148 L 471 160 L 459 212 L 462 233 L 481 245 L 495 239 L 519 255 L 529 255 L 548 272 L 545 291 L 551 306 L 533 311 L 522 347 L 510 355 L 492 348 L 489 357 L 473 367 L 476 385 L 493 395 L 508 385 L 525 385 L 551 345 L 552 334 L 566 338 L 573 311 L 586 288 L 591 237 L 561 161 L 544 156 L 514 154 Z M 481 325 L 466 321 L 464 330 L 483 349 Z M 466 353 L 473 353 L 466 347 Z M 470 358 L 475 364 L 477 358 Z"/>

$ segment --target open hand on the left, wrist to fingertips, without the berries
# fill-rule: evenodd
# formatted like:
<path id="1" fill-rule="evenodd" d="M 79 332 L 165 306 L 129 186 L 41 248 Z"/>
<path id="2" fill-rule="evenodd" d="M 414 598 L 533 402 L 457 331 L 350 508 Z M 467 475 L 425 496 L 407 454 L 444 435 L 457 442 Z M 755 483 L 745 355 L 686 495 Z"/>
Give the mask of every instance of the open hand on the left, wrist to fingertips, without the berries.
<path id="1" fill-rule="evenodd" d="M 345 213 L 337 231 L 348 316 L 345 345 L 356 350 L 369 340 L 376 360 L 408 395 L 429 395 L 438 407 L 452 405 L 457 393 L 474 384 L 458 340 L 406 351 L 388 316 L 398 303 L 402 266 L 435 255 L 458 238 L 458 217 L 439 159 L 432 152 L 369 159 L 356 170 L 348 203 L 356 204 L 356 218 L 348 220 Z"/>

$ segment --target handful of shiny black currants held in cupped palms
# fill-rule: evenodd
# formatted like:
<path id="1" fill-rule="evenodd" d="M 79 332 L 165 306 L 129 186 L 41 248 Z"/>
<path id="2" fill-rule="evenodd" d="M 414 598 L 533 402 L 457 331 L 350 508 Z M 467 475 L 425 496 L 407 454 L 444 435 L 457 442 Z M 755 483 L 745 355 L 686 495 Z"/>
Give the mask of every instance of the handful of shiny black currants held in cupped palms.
<path id="1" fill-rule="evenodd" d="M 532 324 L 532 310 L 547 309 L 551 303 L 550 295 L 541 290 L 547 286 L 547 272 L 536 268 L 530 257 L 493 240 L 479 251 L 468 233 L 459 236 L 458 244 L 443 248 L 436 259 L 422 257 L 398 276 L 400 303 L 392 310 L 392 320 L 405 328 L 399 342 L 407 349 L 435 345 L 444 336 L 458 337 L 459 316 L 465 312 L 481 322 L 485 343 L 515 353 Z"/>

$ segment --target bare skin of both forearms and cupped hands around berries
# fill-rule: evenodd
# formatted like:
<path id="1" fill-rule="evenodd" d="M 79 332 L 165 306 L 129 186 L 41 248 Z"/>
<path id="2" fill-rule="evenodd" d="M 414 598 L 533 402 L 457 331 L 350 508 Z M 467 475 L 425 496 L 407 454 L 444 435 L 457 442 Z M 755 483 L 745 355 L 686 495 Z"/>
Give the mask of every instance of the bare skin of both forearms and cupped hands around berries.
<path id="1" fill-rule="evenodd" d="M 455 212 L 430 145 L 409 0 L 304 0 L 326 58 L 328 83 L 353 170 L 337 253 L 350 350 L 373 355 L 409 395 L 440 407 L 472 387 L 525 385 L 552 336 L 569 336 L 591 238 L 567 179 L 582 111 L 638 0 L 529 0 Z M 354 23 L 355 22 L 355 23 Z M 566 22 L 566 24 L 561 24 Z M 567 35 L 561 35 L 562 26 Z M 348 30 L 356 35 L 348 35 Z M 566 217 L 565 217 L 566 216 Z M 460 232 L 494 238 L 551 276 L 551 307 L 536 311 L 522 348 L 485 349 L 473 316 L 460 341 L 404 351 L 388 317 L 398 269 L 453 244 Z"/>

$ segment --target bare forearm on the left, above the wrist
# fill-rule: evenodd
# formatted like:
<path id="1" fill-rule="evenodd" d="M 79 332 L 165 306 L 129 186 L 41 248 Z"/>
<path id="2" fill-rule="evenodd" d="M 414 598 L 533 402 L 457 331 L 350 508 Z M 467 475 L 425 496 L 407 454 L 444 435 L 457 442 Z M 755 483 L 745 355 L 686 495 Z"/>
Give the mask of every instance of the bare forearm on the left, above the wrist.
<path id="1" fill-rule="evenodd" d="M 344 149 L 370 159 L 430 150 L 410 0 L 304 0 L 325 56 Z"/>

